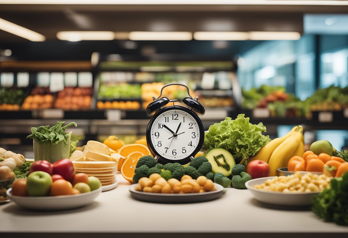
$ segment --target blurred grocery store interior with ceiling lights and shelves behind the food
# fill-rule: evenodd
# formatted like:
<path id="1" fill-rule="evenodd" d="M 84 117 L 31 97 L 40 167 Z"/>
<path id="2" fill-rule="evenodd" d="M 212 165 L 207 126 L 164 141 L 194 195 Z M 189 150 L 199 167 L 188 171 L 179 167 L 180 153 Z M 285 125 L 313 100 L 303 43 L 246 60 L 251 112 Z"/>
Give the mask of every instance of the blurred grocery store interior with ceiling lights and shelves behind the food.
<path id="1" fill-rule="evenodd" d="M 307 145 L 348 147 L 347 13 L 346 0 L 0 0 L 0 147 L 33 157 L 31 127 L 57 120 L 77 122 L 80 145 L 133 143 L 170 82 L 199 96 L 205 129 L 245 113 L 272 138 L 300 124 Z"/>

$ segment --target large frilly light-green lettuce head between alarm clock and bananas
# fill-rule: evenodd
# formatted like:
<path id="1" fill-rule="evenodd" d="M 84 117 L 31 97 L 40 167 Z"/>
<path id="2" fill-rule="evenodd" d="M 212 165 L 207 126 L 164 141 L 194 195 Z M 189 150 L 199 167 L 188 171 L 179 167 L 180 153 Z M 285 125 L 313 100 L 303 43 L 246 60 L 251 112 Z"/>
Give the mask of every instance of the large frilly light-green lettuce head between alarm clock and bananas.
<path id="1" fill-rule="evenodd" d="M 253 125 L 244 114 L 239 114 L 235 120 L 226 117 L 220 123 L 209 127 L 205 133 L 204 145 L 208 148 L 223 148 L 228 150 L 236 161 L 244 161 L 255 155 L 270 138 L 261 132 L 266 132 L 262 122 Z M 243 162 L 242 162 L 243 163 Z"/>

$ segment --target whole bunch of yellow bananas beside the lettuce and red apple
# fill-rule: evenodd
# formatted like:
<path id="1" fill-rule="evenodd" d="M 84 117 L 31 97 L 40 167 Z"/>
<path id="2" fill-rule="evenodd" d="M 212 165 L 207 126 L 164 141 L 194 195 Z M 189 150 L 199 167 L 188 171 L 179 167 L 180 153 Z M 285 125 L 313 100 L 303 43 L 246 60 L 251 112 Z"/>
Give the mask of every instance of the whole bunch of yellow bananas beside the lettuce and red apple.
<path id="1" fill-rule="evenodd" d="M 293 156 L 302 156 L 304 153 L 303 127 L 295 126 L 283 137 L 276 138 L 263 146 L 252 160 L 263 160 L 268 163 L 270 176 L 277 176 L 277 169 L 287 167 Z"/>

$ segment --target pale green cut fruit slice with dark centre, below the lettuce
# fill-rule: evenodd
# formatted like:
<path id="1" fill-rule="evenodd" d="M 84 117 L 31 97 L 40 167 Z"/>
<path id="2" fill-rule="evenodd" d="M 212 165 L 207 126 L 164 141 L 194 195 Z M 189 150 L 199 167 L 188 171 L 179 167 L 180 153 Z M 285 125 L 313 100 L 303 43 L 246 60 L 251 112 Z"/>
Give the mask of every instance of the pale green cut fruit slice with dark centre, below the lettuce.
<path id="1" fill-rule="evenodd" d="M 206 153 L 205 158 L 207 158 L 212 164 L 212 172 L 214 174 L 222 173 L 225 177 L 231 175 L 231 170 L 233 166 L 236 165 L 236 161 L 232 154 L 222 148 L 209 150 Z"/>

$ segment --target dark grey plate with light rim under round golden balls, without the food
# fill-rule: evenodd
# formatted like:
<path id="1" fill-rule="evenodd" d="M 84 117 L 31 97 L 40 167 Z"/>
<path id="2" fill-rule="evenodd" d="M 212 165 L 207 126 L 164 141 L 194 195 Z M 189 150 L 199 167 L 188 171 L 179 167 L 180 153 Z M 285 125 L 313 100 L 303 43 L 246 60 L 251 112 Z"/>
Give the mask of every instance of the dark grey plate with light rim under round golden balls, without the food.
<path id="1" fill-rule="evenodd" d="M 223 193 L 223 187 L 214 183 L 216 191 L 201 193 L 151 193 L 136 191 L 138 184 L 129 186 L 130 196 L 141 201 L 151 203 L 199 203 L 219 198 Z"/>

